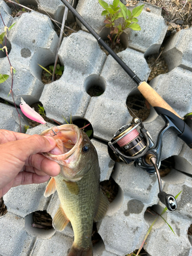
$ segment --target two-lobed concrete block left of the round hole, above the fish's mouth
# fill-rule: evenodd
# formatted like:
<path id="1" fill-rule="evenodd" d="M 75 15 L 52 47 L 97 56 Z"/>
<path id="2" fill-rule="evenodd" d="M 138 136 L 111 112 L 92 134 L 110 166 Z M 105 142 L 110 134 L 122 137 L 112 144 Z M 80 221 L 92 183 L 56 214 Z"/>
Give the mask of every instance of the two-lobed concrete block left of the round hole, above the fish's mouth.
<path id="1" fill-rule="evenodd" d="M 105 54 L 92 35 L 79 31 L 63 40 L 59 59 L 65 66 L 62 77 L 45 87 L 40 101 L 48 118 L 63 123 L 63 116 L 84 116 L 91 98 L 84 81 L 100 70 Z"/>

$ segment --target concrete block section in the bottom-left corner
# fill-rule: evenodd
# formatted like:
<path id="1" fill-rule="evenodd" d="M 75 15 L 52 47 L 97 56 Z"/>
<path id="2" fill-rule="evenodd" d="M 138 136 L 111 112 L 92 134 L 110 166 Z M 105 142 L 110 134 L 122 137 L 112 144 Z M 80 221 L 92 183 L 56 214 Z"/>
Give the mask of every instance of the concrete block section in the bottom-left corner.
<path id="1" fill-rule="evenodd" d="M 0 219 L 0 254 L 6 256 L 26 256 L 33 244 L 25 230 L 25 219 L 8 212 Z"/>

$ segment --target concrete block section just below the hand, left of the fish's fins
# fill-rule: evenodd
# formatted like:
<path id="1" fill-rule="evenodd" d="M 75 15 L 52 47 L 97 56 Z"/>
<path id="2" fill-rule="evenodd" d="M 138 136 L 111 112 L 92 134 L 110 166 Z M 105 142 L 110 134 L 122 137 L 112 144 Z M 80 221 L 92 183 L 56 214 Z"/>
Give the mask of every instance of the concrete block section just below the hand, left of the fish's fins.
<path id="1" fill-rule="evenodd" d="M 25 217 L 33 211 L 44 210 L 48 201 L 44 197 L 46 185 L 47 183 L 41 183 L 12 187 L 4 196 L 8 211 Z"/>

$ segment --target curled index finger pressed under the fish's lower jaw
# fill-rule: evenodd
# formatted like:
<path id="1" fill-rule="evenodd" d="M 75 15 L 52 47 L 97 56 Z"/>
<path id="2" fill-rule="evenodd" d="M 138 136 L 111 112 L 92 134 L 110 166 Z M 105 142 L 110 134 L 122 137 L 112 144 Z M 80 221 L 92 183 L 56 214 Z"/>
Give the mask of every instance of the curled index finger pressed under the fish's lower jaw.
<path id="1" fill-rule="evenodd" d="M 49 160 L 40 154 L 31 155 L 26 161 L 26 166 L 28 165 L 33 166 L 35 168 L 35 173 L 38 175 L 47 174 L 50 176 L 57 176 L 60 172 L 60 166 L 58 163 Z M 26 170 L 33 172 L 32 168 L 26 168 Z"/>

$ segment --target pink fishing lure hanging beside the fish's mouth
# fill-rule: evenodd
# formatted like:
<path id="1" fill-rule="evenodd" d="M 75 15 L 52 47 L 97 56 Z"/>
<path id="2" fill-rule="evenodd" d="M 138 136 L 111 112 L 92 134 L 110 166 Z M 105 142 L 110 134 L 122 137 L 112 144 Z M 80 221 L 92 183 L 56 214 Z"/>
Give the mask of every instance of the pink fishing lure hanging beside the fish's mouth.
<path id="1" fill-rule="evenodd" d="M 20 100 L 20 110 L 24 113 L 25 116 L 30 118 L 33 121 L 38 123 L 46 124 L 44 118 L 42 118 L 36 111 L 34 111 L 25 101 L 23 98 Z"/>

